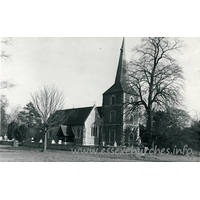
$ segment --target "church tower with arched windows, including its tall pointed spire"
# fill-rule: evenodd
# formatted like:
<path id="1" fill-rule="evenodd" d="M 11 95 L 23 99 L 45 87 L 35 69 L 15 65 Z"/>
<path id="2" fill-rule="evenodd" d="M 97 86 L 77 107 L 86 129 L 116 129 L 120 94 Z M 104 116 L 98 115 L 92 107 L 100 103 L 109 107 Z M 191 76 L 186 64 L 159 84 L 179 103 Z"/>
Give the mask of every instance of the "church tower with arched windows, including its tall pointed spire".
<path id="1" fill-rule="evenodd" d="M 103 137 L 106 145 L 131 145 L 133 116 L 128 112 L 127 103 L 133 101 L 133 94 L 128 91 L 127 78 L 123 38 L 115 82 L 103 93 Z"/>

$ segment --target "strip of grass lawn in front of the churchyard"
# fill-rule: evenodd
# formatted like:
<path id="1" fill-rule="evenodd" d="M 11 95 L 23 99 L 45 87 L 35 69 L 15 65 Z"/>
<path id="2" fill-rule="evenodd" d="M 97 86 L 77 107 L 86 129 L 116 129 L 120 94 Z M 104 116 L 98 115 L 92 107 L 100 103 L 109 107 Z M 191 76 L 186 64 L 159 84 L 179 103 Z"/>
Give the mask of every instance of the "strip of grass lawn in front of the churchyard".
<path id="1" fill-rule="evenodd" d="M 199 162 L 200 157 L 186 155 L 145 155 L 142 158 L 139 154 L 72 154 L 71 151 L 60 151 L 30 147 L 12 147 L 0 145 L 1 162 Z"/>

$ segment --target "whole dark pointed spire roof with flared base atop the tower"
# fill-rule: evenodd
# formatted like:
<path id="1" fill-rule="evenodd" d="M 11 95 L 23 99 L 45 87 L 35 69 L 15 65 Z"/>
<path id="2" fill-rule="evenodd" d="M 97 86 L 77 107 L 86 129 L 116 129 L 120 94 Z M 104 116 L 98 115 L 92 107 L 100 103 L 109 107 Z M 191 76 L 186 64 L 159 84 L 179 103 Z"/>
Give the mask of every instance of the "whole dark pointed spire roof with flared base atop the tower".
<path id="1" fill-rule="evenodd" d="M 126 75 L 127 75 L 127 63 L 125 59 L 125 41 L 123 38 L 122 46 L 120 49 L 119 63 L 117 68 L 117 74 L 115 77 L 115 83 L 104 94 L 118 93 L 126 91 Z"/>

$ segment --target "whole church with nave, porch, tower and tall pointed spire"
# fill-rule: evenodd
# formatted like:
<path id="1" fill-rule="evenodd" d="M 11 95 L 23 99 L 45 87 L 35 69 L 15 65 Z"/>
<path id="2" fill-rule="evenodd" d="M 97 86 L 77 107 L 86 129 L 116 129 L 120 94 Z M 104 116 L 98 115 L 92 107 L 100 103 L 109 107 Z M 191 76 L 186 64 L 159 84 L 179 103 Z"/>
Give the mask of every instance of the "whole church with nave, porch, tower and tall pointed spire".
<path id="1" fill-rule="evenodd" d="M 139 137 L 139 126 L 130 112 L 134 93 L 127 85 L 128 65 L 125 39 L 120 48 L 114 84 L 103 93 L 102 107 L 84 107 L 57 111 L 62 120 L 48 131 L 49 140 L 85 146 L 131 146 Z M 55 137 L 54 137 L 55 138 Z"/>

